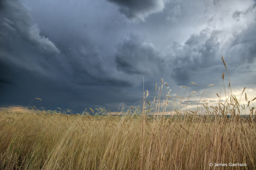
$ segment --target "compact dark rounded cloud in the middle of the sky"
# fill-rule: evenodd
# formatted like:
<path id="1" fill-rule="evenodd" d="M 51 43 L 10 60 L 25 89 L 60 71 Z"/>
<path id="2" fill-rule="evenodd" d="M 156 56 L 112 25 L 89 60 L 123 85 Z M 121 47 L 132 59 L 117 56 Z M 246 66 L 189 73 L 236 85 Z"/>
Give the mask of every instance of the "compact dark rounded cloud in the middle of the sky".
<path id="1" fill-rule="evenodd" d="M 136 34 L 130 34 L 119 43 L 115 54 L 118 71 L 127 74 L 158 75 L 164 67 L 161 53 Z"/>

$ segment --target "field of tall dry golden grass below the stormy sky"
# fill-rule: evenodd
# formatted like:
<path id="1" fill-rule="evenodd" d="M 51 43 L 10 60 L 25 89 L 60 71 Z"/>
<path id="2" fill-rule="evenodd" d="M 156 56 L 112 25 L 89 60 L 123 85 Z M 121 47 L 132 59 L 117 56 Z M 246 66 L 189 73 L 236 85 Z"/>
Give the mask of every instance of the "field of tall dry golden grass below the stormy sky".
<path id="1" fill-rule="evenodd" d="M 122 116 L 1 111 L 0 169 L 256 169 L 256 120 L 250 107 L 255 98 L 245 96 L 246 118 L 241 117 L 246 106 L 232 94 L 216 107 L 203 101 L 201 109 L 182 114 L 174 109 L 176 115 L 164 117 L 170 96 L 165 92 L 161 98 L 163 85 L 168 88 L 161 82 L 153 105 L 146 91 L 142 108 L 131 107 Z"/>

